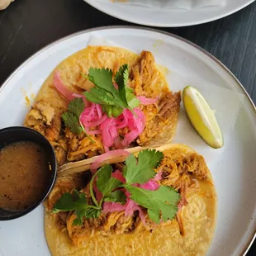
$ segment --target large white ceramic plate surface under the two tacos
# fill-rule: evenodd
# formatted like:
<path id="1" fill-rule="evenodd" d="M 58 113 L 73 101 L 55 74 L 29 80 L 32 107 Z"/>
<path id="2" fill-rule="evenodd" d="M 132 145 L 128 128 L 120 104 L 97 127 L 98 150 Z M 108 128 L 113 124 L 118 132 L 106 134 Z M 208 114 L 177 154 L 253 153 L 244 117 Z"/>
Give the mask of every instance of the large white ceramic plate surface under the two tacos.
<path id="1" fill-rule="evenodd" d="M 22 125 L 32 98 L 57 64 L 100 35 L 137 53 L 151 50 L 168 68 L 173 91 L 188 83 L 206 97 L 223 131 L 225 145 L 208 147 L 192 129 L 183 109 L 175 142 L 192 146 L 206 158 L 218 193 L 216 234 L 208 255 L 242 255 L 256 230 L 256 112 L 236 78 L 220 62 L 196 45 L 159 31 L 132 27 L 105 27 L 79 32 L 40 50 L 26 60 L 0 90 L 0 128 Z M 17 220 L 0 222 L 1 256 L 50 255 L 45 242 L 43 206 Z"/>

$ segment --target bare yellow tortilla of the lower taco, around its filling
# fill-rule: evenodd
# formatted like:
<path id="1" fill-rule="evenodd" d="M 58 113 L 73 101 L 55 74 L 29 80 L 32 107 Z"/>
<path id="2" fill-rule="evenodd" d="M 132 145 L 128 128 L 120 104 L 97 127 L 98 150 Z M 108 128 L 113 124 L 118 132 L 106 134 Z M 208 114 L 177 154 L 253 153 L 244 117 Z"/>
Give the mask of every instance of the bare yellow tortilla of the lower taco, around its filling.
<path id="1" fill-rule="evenodd" d="M 160 151 L 181 154 L 196 153 L 186 145 L 168 145 Z M 202 164 L 205 164 L 203 162 Z M 180 235 L 178 221 L 168 221 L 153 232 L 139 231 L 121 235 L 91 235 L 83 245 L 75 246 L 66 230 L 59 230 L 55 220 L 45 211 L 45 236 L 53 256 L 82 255 L 204 255 L 211 244 L 216 226 L 216 189 L 211 173 L 187 189 L 187 206 L 181 216 L 185 235 Z"/>

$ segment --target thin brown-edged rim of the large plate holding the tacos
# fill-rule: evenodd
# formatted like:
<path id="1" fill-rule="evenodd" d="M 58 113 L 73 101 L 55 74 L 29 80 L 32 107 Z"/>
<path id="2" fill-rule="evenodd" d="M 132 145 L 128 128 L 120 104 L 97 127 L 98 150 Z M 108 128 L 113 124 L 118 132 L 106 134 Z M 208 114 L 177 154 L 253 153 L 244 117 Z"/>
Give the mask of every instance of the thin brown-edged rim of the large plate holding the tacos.
<path id="1" fill-rule="evenodd" d="M 106 31 L 106 30 L 111 30 L 111 29 L 125 29 L 125 30 L 126 29 L 131 29 L 131 30 L 151 31 L 151 32 L 154 32 L 154 33 L 159 33 L 159 34 L 163 34 L 165 36 L 173 37 L 173 38 L 175 38 L 177 40 L 181 40 L 183 43 L 185 43 L 187 45 L 191 45 L 192 47 L 194 47 L 197 50 L 201 51 L 201 53 L 203 53 L 204 55 L 206 55 L 209 58 L 211 58 L 216 64 L 218 64 L 220 66 L 221 69 L 224 69 L 224 71 L 226 73 L 228 73 L 231 78 L 233 78 L 234 82 L 242 90 L 242 92 L 244 92 L 244 95 L 249 100 L 249 103 L 250 103 L 249 105 L 251 107 L 251 110 L 254 111 L 254 117 L 256 117 L 256 106 L 254 105 L 253 100 L 249 96 L 249 93 L 245 90 L 245 88 L 242 85 L 242 83 L 239 82 L 238 78 L 235 77 L 234 73 L 232 73 L 230 71 L 230 69 L 228 69 L 225 66 L 225 64 L 222 64 L 219 59 L 216 59 L 215 56 L 211 55 L 209 52 L 207 52 L 206 50 L 201 48 L 199 45 L 196 45 L 195 43 L 192 43 L 191 41 L 189 41 L 187 39 L 184 39 L 181 36 L 174 35 L 174 34 L 172 34 L 170 32 L 167 32 L 167 31 L 160 31 L 159 29 L 156 29 L 156 28 L 149 28 L 149 27 L 143 27 L 143 26 L 97 26 L 97 27 L 89 28 L 89 29 L 86 29 L 86 30 L 83 30 L 83 31 L 78 31 L 78 32 L 69 34 L 68 36 L 64 36 L 64 37 L 60 38 L 59 40 L 55 40 L 52 43 L 50 43 L 48 45 L 45 45 L 45 47 L 41 48 L 40 50 L 36 51 L 36 53 L 34 55 L 31 55 L 30 57 L 28 57 L 16 69 L 14 69 L 14 71 L 2 83 L 2 85 L 0 87 L 0 97 L 1 97 L 1 92 L 2 92 L 3 88 L 5 88 L 7 86 L 7 84 L 12 79 L 12 77 L 14 77 L 19 72 L 19 70 L 22 69 L 27 63 L 29 63 L 32 59 L 36 58 L 37 55 L 40 55 L 45 50 L 48 50 L 50 47 L 52 47 L 54 45 L 58 45 L 60 42 L 62 42 L 64 40 L 67 40 L 69 38 L 72 38 L 74 36 L 79 36 L 79 35 L 91 33 L 93 31 L 103 31 L 103 30 Z M 248 240 L 246 246 L 244 246 L 244 249 L 243 249 L 242 253 L 239 254 L 240 256 L 245 256 L 247 254 L 247 252 L 249 251 L 251 245 L 254 243 L 254 239 L 256 239 L 256 226 L 254 227 L 254 231 L 250 235 L 250 239 Z"/>

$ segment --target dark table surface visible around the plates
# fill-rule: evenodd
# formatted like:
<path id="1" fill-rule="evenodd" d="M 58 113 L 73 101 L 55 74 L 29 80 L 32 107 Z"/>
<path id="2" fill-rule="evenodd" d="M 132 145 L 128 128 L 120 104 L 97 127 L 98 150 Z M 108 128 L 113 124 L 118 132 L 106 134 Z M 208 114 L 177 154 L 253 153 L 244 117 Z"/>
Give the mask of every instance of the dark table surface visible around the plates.
<path id="1" fill-rule="evenodd" d="M 0 86 L 45 45 L 76 31 L 110 25 L 130 23 L 99 12 L 83 0 L 16 0 L 0 11 Z M 256 102 L 256 2 L 218 21 L 160 29 L 191 40 L 220 59 Z M 256 242 L 247 255 L 256 255 Z"/>

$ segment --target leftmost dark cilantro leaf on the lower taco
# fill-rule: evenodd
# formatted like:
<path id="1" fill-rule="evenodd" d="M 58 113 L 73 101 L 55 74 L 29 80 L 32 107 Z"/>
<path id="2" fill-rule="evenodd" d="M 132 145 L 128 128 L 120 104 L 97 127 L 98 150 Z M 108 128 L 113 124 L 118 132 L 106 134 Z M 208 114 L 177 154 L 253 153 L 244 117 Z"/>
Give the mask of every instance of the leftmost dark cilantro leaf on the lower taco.
<path id="1" fill-rule="evenodd" d="M 96 206 L 88 205 L 85 194 L 83 192 L 79 193 L 77 190 L 73 191 L 73 195 L 64 193 L 59 198 L 52 212 L 57 213 L 59 211 L 74 211 L 77 218 L 73 220 L 73 225 L 82 225 L 83 217 L 97 218 L 101 214 L 101 210 Z"/>

